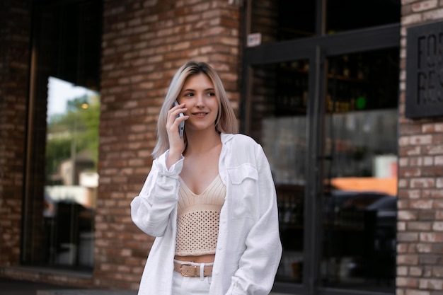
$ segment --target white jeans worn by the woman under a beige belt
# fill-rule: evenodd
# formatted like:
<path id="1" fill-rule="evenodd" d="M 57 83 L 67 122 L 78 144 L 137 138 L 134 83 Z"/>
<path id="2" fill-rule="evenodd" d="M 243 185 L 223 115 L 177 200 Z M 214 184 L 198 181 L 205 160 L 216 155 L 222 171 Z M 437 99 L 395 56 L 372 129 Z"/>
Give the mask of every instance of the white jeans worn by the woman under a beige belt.
<path id="1" fill-rule="evenodd" d="M 183 262 L 190 265 L 212 265 L 213 263 L 194 263 Z M 209 294 L 209 287 L 211 286 L 212 277 L 183 277 L 180 272 L 173 272 L 172 277 L 172 295 L 207 295 Z"/>

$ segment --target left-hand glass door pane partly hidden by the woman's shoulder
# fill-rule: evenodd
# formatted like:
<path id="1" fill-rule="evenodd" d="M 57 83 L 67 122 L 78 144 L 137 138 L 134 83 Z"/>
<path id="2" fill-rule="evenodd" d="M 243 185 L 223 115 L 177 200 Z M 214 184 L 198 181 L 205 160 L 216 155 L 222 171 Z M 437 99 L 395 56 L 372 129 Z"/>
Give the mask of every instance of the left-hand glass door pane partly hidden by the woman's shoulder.
<path id="1" fill-rule="evenodd" d="M 263 145 L 277 188 L 281 282 L 303 281 L 309 62 L 253 66 L 248 134 Z"/>

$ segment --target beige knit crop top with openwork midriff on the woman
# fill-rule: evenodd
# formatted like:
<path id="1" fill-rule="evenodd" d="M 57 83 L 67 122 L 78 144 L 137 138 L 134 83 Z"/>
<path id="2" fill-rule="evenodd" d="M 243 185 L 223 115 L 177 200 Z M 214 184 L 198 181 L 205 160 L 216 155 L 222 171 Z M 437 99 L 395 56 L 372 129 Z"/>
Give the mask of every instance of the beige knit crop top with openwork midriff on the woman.
<path id="1" fill-rule="evenodd" d="M 226 186 L 220 175 L 200 195 L 179 178 L 176 255 L 214 254 Z"/>

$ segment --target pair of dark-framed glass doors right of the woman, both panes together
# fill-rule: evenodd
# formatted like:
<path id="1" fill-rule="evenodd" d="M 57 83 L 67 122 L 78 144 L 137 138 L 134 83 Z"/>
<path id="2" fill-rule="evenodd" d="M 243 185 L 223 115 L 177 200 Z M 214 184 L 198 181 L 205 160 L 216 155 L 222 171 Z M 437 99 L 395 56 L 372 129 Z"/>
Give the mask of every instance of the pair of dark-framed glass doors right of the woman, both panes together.
<path id="1" fill-rule="evenodd" d="M 275 291 L 393 293 L 398 47 L 316 48 L 248 72 L 245 132 L 262 144 L 277 189 Z"/>

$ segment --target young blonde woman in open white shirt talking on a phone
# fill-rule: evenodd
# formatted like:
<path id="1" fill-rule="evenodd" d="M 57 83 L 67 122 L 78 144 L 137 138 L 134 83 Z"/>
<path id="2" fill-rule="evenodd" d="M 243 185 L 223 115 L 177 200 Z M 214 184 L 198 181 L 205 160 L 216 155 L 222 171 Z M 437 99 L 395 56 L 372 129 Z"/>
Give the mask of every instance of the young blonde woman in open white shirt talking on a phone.
<path id="1" fill-rule="evenodd" d="M 134 224 L 156 237 L 139 295 L 269 294 L 282 254 L 275 185 L 261 146 L 237 132 L 216 71 L 180 67 L 131 203 Z"/>

